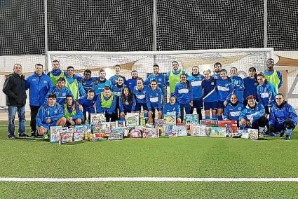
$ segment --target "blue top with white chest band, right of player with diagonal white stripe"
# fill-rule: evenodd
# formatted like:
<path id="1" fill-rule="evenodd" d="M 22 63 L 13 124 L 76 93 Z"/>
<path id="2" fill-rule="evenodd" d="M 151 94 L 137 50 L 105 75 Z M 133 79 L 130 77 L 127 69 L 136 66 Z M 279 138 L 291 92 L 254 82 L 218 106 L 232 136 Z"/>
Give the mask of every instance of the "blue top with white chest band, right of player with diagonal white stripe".
<path id="1" fill-rule="evenodd" d="M 218 90 L 218 100 L 229 102 L 231 95 L 233 94 L 233 86 L 229 79 L 218 78 L 216 81 Z"/>

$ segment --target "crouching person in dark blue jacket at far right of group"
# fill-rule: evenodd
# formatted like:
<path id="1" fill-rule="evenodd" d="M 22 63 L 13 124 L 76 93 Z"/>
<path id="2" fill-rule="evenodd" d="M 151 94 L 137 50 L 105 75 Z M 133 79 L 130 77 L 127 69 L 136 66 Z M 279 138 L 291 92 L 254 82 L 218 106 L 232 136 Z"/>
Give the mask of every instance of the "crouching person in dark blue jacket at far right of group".
<path id="1" fill-rule="evenodd" d="M 298 123 L 298 117 L 294 108 L 285 101 L 283 94 L 276 95 L 276 104 L 273 104 L 269 116 L 269 130 L 270 132 L 280 132 L 280 137 L 283 137 L 285 132 L 285 139 L 291 139 L 292 130 Z"/>

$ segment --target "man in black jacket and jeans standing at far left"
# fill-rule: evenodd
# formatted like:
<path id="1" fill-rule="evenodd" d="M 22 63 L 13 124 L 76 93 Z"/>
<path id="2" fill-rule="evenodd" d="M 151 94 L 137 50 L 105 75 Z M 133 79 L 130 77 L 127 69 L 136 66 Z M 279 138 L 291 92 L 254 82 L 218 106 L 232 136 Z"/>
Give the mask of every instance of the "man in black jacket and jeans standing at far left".
<path id="1" fill-rule="evenodd" d="M 13 74 L 10 74 L 4 82 L 3 92 L 6 95 L 8 106 L 8 138 L 15 139 L 15 114 L 19 116 L 19 136 L 28 137 L 25 134 L 25 104 L 26 88 L 25 76 L 22 75 L 21 64 L 13 66 Z"/>

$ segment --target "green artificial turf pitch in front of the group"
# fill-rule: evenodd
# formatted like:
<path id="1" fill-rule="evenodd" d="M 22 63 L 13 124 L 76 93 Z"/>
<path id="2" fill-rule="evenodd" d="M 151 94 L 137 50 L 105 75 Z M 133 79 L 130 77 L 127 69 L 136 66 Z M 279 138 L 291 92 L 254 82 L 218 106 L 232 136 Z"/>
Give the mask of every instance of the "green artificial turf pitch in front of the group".
<path id="1" fill-rule="evenodd" d="M 27 128 L 29 133 L 29 128 Z M 0 177 L 298 177 L 298 135 L 50 144 L 6 138 Z M 0 198 L 298 198 L 297 182 L 0 182 Z"/>

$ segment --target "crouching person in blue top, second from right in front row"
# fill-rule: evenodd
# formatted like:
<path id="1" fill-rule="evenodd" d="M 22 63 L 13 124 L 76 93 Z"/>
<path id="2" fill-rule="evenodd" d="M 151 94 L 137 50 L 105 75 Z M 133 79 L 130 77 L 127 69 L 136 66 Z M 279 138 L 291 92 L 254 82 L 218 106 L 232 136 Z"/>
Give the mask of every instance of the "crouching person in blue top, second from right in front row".
<path id="1" fill-rule="evenodd" d="M 257 103 L 255 96 L 249 95 L 247 98 L 248 105 L 241 111 L 239 117 L 239 128 L 240 129 L 259 129 L 262 135 L 264 127 L 268 125 L 268 120 L 265 118 L 265 109 L 261 103 Z M 271 135 L 275 136 L 275 135 Z"/>

